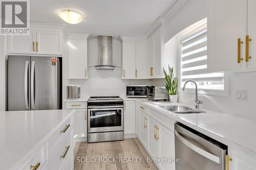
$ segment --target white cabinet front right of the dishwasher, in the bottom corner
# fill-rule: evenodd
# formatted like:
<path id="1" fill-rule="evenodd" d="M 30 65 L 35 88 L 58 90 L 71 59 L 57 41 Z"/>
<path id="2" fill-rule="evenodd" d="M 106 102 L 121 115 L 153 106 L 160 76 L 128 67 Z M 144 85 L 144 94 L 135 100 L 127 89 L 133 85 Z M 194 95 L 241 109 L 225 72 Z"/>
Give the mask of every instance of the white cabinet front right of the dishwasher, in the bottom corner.
<path id="1" fill-rule="evenodd" d="M 255 170 L 256 169 L 256 158 L 250 155 L 246 155 L 242 152 L 237 151 L 233 148 L 228 148 L 228 155 L 232 159 L 229 162 L 230 170 Z"/>

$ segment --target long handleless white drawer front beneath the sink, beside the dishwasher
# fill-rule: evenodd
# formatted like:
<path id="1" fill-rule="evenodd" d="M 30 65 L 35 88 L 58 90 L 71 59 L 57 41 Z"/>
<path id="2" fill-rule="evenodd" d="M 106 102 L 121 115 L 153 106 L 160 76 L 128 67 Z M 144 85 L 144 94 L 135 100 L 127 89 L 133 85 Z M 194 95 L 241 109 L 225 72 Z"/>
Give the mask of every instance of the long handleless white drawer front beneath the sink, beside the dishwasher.
<path id="1" fill-rule="evenodd" d="M 148 115 L 150 115 L 151 117 L 156 119 L 157 122 L 159 122 L 160 124 L 167 127 L 169 130 L 174 132 L 174 124 L 176 123 L 176 120 L 173 119 L 172 117 L 164 115 L 160 113 L 160 111 L 158 112 L 154 109 L 148 109 Z"/>

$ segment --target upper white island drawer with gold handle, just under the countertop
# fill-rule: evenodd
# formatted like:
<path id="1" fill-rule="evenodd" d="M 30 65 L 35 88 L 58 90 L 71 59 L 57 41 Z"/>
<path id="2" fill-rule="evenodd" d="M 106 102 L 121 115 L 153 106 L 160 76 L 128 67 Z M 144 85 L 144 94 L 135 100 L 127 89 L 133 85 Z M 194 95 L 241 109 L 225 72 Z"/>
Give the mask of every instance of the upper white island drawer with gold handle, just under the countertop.
<path id="1" fill-rule="evenodd" d="M 73 115 L 66 120 L 66 122 L 59 127 L 59 129 L 51 136 L 48 141 L 48 153 L 51 155 L 53 150 L 56 148 L 55 145 L 59 145 L 59 141 L 62 140 L 63 136 L 65 136 L 68 132 L 73 129 Z"/>

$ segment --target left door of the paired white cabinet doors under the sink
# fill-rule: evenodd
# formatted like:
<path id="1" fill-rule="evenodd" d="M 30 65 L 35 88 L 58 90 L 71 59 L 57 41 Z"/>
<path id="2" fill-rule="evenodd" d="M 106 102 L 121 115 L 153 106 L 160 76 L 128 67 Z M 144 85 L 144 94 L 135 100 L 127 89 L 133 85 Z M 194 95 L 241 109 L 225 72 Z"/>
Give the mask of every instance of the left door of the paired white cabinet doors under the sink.
<path id="1" fill-rule="evenodd" d="M 157 140 L 157 131 L 159 132 L 158 123 L 151 117 L 148 120 L 148 152 L 151 157 L 158 158 L 159 156 L 159 140 Z"/>

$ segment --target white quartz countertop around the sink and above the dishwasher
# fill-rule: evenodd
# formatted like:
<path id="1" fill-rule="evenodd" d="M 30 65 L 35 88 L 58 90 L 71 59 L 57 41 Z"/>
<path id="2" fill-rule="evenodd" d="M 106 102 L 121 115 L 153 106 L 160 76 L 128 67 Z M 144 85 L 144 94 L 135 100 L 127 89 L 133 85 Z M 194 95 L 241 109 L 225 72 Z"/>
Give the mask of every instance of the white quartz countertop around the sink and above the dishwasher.
<path id="1" fill-rule="evenodd" d="M 245 153 L 256 156 L 256 121 L 219 113 L 212 110 L 200 109 L 205 113 L 178 114 L 166 109 L 161 105 L 181 105 L 169 102 L 154 102 L 148 100 L 136 100 L 139 103 L 169 115 L 190 128 L 193 128 L 211 138 L 214 138 L 229 147 L 239 148 Z M 191 107 L 191 106 L 189 106 Z M 193 107 L 191 107 L 193 108 Z"/>

